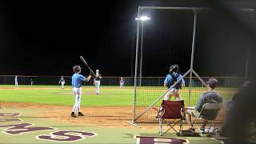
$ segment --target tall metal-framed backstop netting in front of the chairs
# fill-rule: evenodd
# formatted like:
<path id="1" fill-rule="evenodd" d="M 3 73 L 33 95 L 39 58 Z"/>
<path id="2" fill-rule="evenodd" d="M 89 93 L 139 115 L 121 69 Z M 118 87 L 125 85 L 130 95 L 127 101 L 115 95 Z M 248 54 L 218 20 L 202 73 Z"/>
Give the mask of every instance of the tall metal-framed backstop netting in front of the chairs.
<path id="1" fill-rule="evenodd" d="M 232 25 L 211 10 L 196 12 L 194 26 L 194 10 L 197 9 L 139 9 L 139 16 L 146 15 L 150 20 L 138 21 L 133 122 L 157 122 L 155 117 L 167 90 L 163 86 L 164 79 L 173 64 L 180 66 L 182 75 L 186 74 L 185 86 L 179 91 L 185 106 L 196 105 L 200 95 L 207 90 L 205 82 L 209 78 L 218 79 L 217 91 L 222 95 L 224 102 L 230 101 L 244 82 L 246 50 L 232 51 L 233 54 L 239 54 L 238 61 L 234 62 L 236 66 L 243 67 L 238 73 L 233 71 L 235 69 L 232 63 L 226 61 L 227 57 L 235 56 L 230 56 L 230 51 L 225 49 L 226 46 L 241 44 L 238 38 L 242 36 L 238 36 L 234 31 L 234 36 L 224 40 L 235 26 L 226 27 Z M 170 100 L 174 100 L 174 97 Z M 223 113 L 224 111 L 221 112 Z M 222 119 L 223 116 L 219 118 L 220 121 Z"/>

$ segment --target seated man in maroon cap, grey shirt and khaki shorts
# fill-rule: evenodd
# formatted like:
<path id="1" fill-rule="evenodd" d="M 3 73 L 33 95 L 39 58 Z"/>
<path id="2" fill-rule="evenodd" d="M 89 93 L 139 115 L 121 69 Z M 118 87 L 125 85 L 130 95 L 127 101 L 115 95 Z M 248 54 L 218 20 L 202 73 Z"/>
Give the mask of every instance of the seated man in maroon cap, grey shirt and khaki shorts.
<path id="1" fill-rule="evenodd" d="M 202 110 L 202 106 L 208 102 L 214 103 L 214 102 L 222 102 L 222 97 L 218 92 L 215 91 L 215 88 L 218 84 L 218 80 L 216 78 L 209 78 L 208 82 L 206 82 L 208 90 L 200 96 L 198 99 L 197 105 L 194 107 L 194 109 L 186 109 L 186 122 L 188 122 L 190 129 L 192 132 L 194 132 L 193 124 L 191 117 L 198 117 L 200 111 Z M 218 114 L 218 111 L 216 110 L 207 110 L 203 111 L 202 117 L 204 118 L 214 118 Z M 204 130 L 205 126 L 207 124 L 207 121 L 204 121 L 202 123 L 202 126 L 200 130 Z"/>

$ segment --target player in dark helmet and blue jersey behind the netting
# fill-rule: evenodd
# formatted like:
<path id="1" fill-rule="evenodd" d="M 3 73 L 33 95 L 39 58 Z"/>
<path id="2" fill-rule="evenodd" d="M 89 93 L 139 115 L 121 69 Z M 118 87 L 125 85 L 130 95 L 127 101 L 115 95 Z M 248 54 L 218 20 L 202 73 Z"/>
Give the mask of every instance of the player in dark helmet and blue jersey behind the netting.
<path id="1" fill-rule="evenodd" d="M 167 74 L 164 81 L 164 86 L 167 86 L 169 89 L 170 86 L 173 86 L 174 83 L 180 78 L 182 78 L 182 74 L 179 73 L 179 66 L 174 64 L 173 66 L 170 66 L 169 74 Z M 170 100 L 170 97 L 173 95 L 176 101 L 182 100 L 181 96 L 179 95 L 179 90 L 182 89 L 182 86 L 185 86 L 185 81 L 183 78 L 176 86 L 171 88 L 168 93 L 166 93 L 164 100 Z"/>

